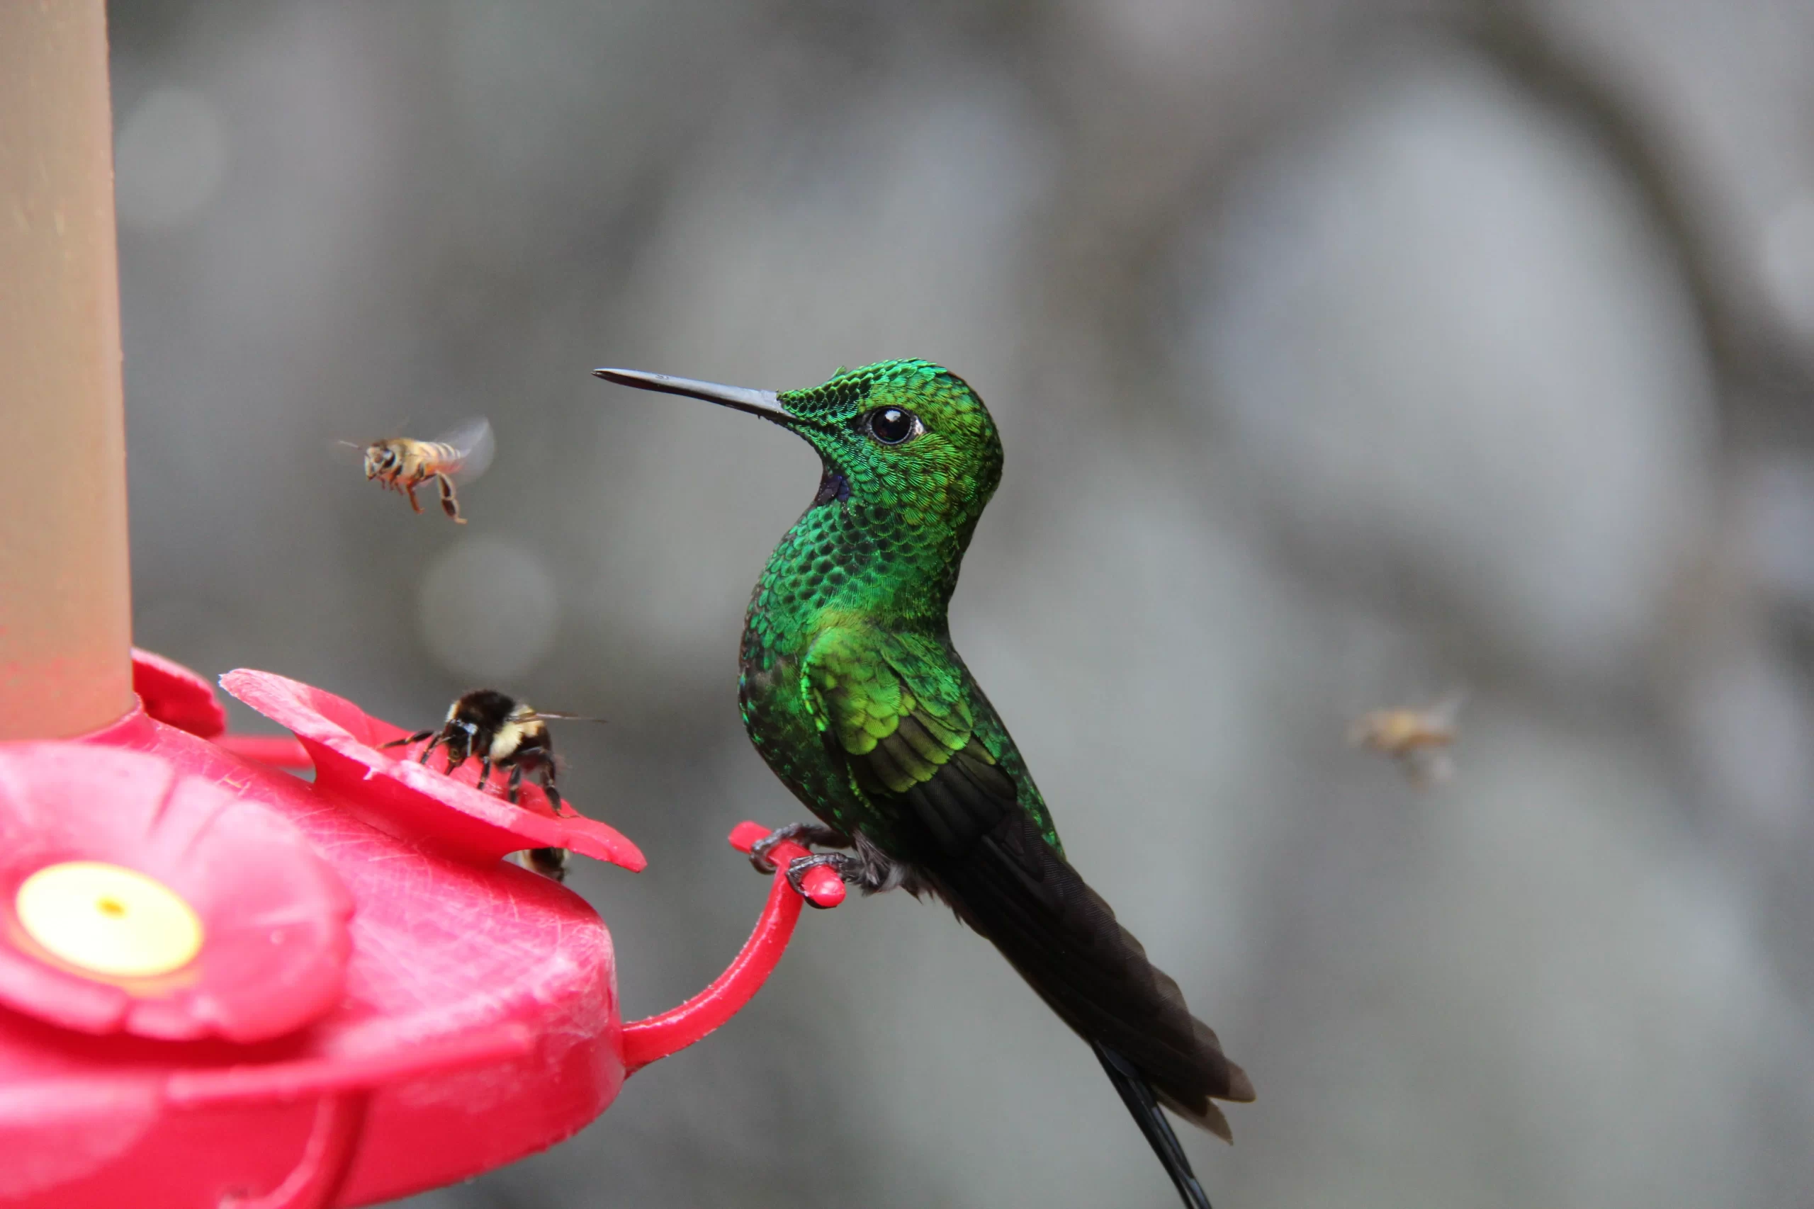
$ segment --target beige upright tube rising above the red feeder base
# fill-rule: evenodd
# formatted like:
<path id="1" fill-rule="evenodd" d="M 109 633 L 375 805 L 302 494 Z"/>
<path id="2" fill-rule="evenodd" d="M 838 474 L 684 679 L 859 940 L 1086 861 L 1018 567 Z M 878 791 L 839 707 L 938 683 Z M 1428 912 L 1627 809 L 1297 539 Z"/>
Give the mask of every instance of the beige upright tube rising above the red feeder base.
<path id="1" fill-rule="evenodd" d="M 132 705 L 102 0 L 0 0 L 0 740 Z"/>

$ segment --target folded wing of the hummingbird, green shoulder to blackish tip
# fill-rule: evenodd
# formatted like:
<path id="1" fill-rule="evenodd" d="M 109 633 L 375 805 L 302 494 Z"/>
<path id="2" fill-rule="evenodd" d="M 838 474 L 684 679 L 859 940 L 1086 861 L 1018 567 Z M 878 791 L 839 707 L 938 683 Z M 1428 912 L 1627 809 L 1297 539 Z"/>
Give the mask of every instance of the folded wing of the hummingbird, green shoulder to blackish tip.
<path id="1" fill-rule="evenodd" d="M 1065 859 L 1038 794 L 1023 794 L 976 734 L 989 705 L 943 645 L 833 629 L 802 663 L 802 692 L 827 750 L 902 839 L 905 852 L 891 856 L 925 874 L 1072 1030 L 1226 1138 L 1212 1098 L 1252 1100 L 1246 1073 Z"/>

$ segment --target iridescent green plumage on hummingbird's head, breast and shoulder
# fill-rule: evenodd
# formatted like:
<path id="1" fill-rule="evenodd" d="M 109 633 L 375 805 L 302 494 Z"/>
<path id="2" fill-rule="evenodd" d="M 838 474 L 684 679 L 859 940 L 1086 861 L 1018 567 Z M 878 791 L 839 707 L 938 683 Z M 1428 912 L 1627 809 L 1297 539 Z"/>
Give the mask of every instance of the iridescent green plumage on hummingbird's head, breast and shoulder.
<path id="1" fill-rule="evenodd" d="M 898 794 L 974 741 L 972 758 L 1007 761 L 1021 807 L 1058 846 L 1045 799 L 951 645 L 945 616 L 963 551 L 1001 480 L 989 411 L 963 381 L 925 361 L 845 372 L 787 392 L 780 404 L 798 417 L 825 475 L 749 602 L 740 703 L 756 749 L 814 814 L 896 856 L 889 803 L 853 779 Z M 902 450 L 854 428 L 889 406 L 925 428 L 907 464 Z M 827 763 L 827 732 L 862 759 L 854 772 Z"/>

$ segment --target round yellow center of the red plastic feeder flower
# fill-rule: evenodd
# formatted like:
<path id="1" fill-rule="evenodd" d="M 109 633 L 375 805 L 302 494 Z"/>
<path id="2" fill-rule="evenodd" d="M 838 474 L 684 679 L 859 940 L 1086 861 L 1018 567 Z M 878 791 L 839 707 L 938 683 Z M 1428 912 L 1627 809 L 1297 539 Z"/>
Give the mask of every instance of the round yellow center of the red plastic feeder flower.
<path id="1" fill-rule="evenodd" d="M 201 952 L 201 919 L 189 903 L 120 865 L 47 865 L 25 879 L 13 906 L 33 941 L 91 973 L 171 973 Z"/>

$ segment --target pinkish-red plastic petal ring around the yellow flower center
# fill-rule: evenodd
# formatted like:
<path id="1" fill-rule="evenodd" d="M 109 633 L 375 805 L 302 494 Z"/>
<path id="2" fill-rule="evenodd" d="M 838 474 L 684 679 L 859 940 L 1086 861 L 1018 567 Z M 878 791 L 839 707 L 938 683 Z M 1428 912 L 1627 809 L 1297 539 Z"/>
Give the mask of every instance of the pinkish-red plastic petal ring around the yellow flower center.
<path id="1" fill-rule="evenodd" d="M 138 870 L 201 921 L 201 950 L 156 977 L 80 972 L 13 915 L 20 885 L 63 861 Z M 0 1002 L 89 1033 L 236 1042 L 328 1011 L 352 899 L 301 834 L 258 801 L 158 756 L 18 743 L 0 750 Z"/>

